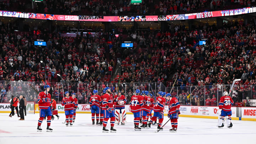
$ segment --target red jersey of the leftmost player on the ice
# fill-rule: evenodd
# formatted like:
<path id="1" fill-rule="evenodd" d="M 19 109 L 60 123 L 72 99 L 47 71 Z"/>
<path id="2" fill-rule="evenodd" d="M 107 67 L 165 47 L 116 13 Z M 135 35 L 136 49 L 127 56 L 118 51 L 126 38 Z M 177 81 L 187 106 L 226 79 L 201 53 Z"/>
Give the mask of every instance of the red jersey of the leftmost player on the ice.
<path id="1" fill-rule="evenodd" d="M 51 96 L 49 92 L 44 93 L 43 91 L 39 93 L 37 102 L 40 109 L 47 109 L 49 106 L 51 106 Z M 44 102 L 45 101 L 45 102 Z"/>

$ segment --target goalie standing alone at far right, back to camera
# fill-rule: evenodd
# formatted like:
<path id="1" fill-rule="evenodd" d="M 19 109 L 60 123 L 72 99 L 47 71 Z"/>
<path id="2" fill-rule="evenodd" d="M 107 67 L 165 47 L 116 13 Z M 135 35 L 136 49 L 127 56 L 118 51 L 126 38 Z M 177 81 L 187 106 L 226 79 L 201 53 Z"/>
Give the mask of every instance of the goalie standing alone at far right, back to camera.
<path id="1" fill-rule="evenodd" d="M 234 102 L 230 96 L 228 96 L 228 92 L 224 91 L 223 97 L 220 98 L 219 102 L 219 110 L 217 114 L 220 114 L 219 118 L 219 128 L 224 127 L 224 117 L 226 117 L 226 124 L 228 128 L 231 128 L 233 124 L 231 123 L 231 106 L 233 106 Z"/>

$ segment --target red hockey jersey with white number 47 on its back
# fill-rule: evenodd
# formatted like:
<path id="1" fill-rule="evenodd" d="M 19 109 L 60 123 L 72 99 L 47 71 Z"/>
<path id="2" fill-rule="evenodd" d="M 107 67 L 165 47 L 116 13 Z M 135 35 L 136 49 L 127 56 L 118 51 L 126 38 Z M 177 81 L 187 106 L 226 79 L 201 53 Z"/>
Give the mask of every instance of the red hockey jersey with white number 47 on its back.
<path id="1" fill-rule="evenodd" d="M 143 103 L 143 97 L 141 95 L 133 95 L 130 102 L 131 112 L 140 112 Z"/>

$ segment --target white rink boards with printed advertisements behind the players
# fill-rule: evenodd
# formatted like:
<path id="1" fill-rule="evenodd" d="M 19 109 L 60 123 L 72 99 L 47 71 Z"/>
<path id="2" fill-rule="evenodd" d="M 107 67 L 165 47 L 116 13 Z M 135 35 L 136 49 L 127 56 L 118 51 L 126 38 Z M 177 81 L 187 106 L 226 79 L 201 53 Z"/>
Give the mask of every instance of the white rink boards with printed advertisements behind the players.
<path id="1" fill-rule="evenodd" d="M 28 112 L 34 111 L 35 113 L 39 113 L 38 104 L 27 104 L 26 110 Z M 58 113 L 64 113 L 64 106 L 57 104 Z M 219 107 L 217 106 L 181 106 L 179 117 L 194 117 L 194 118 L 213 118 L 217 119 L 217 110 Z M 132 114 L 129 111 L 129 105 L 125 105 L 125 110 L 127 114 Z M 256 121 L 256 107 L 241 107 L 241 117 L 236 117 L 237 111 L 236 107 L 231 107 L 232 110 L 232 119 L 234 120 L 245 120 L 245 121 Z M 0 113 L 10 113 L 11 107 L 10 103 L 0 103 Z M 91 113 L 90 105 L 88 104 L 79 104 L 76 109 L 76 113 Z M 165 116 L 168 113 L 168 106 L 165 106 L 164 110 Z"/>

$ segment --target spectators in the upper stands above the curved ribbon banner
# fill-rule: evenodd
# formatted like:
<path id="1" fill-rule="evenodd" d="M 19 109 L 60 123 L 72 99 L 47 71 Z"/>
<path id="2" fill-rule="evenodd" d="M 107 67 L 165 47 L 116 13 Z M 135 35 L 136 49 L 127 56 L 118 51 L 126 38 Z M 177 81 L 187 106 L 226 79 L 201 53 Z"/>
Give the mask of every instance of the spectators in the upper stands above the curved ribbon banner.
<path id="1" fill-rule="evenodd" d="M 66 15 L 168 15 L 235 9 L 254 4 L 255 0 L 143 0 L 138 5 L 132 5 L 129 0 L 47 0 L 33 2 L 34 9 L 32 9 L 31 1 L 4 0 L 1 8 Z"/>

